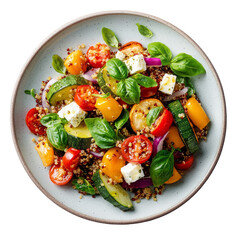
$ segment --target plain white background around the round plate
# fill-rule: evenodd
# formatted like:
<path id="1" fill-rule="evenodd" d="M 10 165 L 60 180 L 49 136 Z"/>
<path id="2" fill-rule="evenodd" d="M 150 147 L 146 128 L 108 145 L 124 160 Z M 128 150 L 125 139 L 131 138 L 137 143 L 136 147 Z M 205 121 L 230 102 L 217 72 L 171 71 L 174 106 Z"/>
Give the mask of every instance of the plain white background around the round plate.
<path id="1" fill-rule="evenodd" d="M 41 0 L 1 1 L 1 239 L 239 239 L 238 1 Z M 133 10 L 160 17 L 190 35 L 215 66 L 225 90 L 228 128 L 220 160 L 203 188 L 174 212 L 146 223 L 107 225 L 61 209 L 34 185 L 12 143 L 10 102 L 33 50 L 53 31 L 82 15 Z"/>

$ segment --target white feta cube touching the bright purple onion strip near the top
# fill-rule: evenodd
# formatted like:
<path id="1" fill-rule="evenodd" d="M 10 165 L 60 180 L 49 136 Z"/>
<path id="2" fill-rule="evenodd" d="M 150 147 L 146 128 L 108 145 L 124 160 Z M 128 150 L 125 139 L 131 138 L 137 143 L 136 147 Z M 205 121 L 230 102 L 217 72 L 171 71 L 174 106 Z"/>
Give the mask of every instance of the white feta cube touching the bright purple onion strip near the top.
<path id="1" fill-rule="evenodd" d="M 147 69 L 146 62 L 142 54 L 135 55 L 124 61 L 130 74 L 144 72 Z"/>

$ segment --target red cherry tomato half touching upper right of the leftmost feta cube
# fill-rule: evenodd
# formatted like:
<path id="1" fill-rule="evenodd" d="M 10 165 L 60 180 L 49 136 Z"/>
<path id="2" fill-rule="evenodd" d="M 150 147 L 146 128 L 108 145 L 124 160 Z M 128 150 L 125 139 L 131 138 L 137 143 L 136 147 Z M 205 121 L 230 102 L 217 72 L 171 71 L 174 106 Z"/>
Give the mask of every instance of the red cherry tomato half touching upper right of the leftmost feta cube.
<path id="1" fill-rule="evenodd" d="M 74 95 L 74 101 L 84 111 L 92 111 L 95 109 L 96 97 L 92 94 L 99 94 L 99 92 L 90 85 L 81 85 L 77 88 Z"/>

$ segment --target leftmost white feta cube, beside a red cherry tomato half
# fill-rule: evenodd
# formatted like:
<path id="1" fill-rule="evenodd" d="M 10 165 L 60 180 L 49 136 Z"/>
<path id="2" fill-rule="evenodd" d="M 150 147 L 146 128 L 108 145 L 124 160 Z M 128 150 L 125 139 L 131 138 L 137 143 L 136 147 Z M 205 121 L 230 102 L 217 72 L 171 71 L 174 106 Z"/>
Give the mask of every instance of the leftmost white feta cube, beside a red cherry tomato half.
<path id="1" fill-rule="evenodd" d="M 83 111 L 76 102 L 72 102 L 63 107 L 59 112 L 60 118 L 66 118 L 73 127 L 77 127 L 86 116 L 86 112 Z"/>

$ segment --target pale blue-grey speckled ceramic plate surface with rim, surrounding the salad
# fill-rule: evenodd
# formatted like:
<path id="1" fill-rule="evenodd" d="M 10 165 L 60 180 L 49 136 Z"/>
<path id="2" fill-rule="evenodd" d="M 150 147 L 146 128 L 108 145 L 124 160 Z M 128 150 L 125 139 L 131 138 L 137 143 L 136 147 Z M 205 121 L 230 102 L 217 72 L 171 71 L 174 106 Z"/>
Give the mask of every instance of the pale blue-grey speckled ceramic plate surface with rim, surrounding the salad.
<path id="1" fill-rule="evenodd" d="M 139 34 L 136 23 L 148 26 L 154 36 L 151 39 Z M 207 142 L 201 142 L 196 161 L 191 171 L 181 181 L 166 186 L 158 201 L 142 200 L 134 203 L 135 210 L 122 212 L 101 196 L 84 196 L 71 186 L 59 187 L 48 177 L 34 150 L 34 137 L 25 125 L 27 111 L 34 107 L 31 97 L 24 94 L 25 89 L 39 89 L 41 81 L 59 74 L 51 67 L 53 54 L 66 56 L 66 49 L 84 43 L 86 48 L 96 42 L 103 42 L 101 28 L 112 29 L 121 43 L 139 41 L 145 47 L 148 43 L 160 41 L 166 44 L 173 56 L 185 52 L 200 61 L 206 69 L 205 75 L 195 77 L 194 85 L 209 118 L 211 129 Z M 213 91 L 214 90 L 214 91 Z M 105 223 L 136 223 L 163 216 L 190 199 L 205 183 L 220 156 L 226 131 L 226 109 L 220 80 L 211 62 L 199 46 L 185 33 L 154 16 L 129 11 L 101 12 L 81 17 L 51 35 L 38 48 L 25 65 L 17 81 L 12 101 L 12 133 L 22 164 L 39 189 L 52 201 L 77 216 Z M 198 206 L 196 206 L 198 207 Z M 43 209 L 44 211 L 44 209 Z"/>

